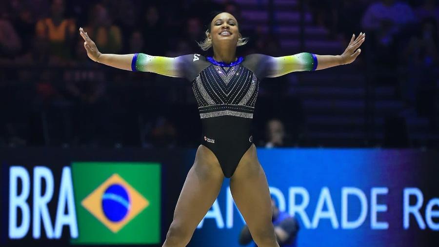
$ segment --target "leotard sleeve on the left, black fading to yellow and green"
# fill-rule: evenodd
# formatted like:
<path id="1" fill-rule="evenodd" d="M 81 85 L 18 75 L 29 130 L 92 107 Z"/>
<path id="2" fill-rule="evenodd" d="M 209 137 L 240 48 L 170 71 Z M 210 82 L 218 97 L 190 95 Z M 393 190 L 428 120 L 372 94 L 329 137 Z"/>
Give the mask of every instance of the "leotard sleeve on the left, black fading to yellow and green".
<path id="1" fill-rule="evenodd" d="M 204 57 L 199 54 L 168 58 L 136 53 L 131 62 L 131 69 L 170 77 L 185 77 L 193 81 L 206 66 L 203 60 L 205 61 Z"/>

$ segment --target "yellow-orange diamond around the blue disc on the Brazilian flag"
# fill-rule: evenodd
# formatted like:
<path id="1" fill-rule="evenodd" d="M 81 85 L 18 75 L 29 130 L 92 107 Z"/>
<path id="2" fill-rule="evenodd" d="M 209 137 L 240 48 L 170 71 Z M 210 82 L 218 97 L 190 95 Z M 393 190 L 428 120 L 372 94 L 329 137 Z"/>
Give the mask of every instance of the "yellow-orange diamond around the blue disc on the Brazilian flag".
<path id="1" fill-rule="evenodd" d="M 129 206 L 126 215 L 122 220 L 113 222 L 107 218 L 102 208 L 102 198 L 105 190 L 111 185 L 122 186 L 129 198 Z M 118 199 L 116 197 L 116 199 Z M 93 216 L 95 216 L 103 225 L 105 225 L 112 232 L 117 233 L 123 226 L 128 224 L 134 217 L 136 217 L 143 209 L 149 206 L 149 201 L 146 200 L 140 193 L 123 180 L 118 174 L 113 174 L 92 193 L 90 193 L 81 205 L 85 207 Z"/>

